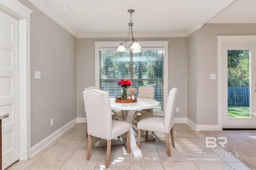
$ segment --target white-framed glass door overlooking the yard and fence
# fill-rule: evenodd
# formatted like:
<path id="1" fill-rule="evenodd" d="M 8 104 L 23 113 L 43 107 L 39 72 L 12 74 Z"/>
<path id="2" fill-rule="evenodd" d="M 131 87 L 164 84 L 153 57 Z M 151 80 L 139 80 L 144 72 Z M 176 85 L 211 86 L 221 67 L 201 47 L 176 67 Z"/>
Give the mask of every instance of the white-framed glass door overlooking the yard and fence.
<path id="1" fill-rule="evenodd" d="M 256 44 L 222 47 L 224 129 L 256 128 Z"/>

